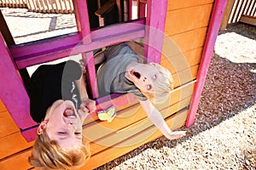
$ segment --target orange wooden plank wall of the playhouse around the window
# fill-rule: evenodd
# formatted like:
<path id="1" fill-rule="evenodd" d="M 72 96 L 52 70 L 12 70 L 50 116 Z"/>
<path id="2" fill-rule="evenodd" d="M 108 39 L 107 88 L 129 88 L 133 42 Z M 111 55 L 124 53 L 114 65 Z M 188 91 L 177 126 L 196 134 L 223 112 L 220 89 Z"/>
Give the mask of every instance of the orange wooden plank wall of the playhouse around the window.
<path id="1" fill-rule="evenodd" d="M 169 0 L 161 65 L 174 77 L 175 90 L 164 104 L 156 105 L 172 129 L 182 127 L 188 114 L 201 52 L 207 35 L 213 0 Z M 90 140 L 91 158 L 81 169 L 92 169 L 136 149 L 162 134 L 148 121 L 137 101 L 118 108 L 113 122 L 84 124 Z M 20 134 L 9 112 L 0 102 L 0 167 L 28 169 L 32 144 Z M 104 157 L 104 159 L 102 159 Z M 100 161 L 99 161 L 100 160 Z"/>

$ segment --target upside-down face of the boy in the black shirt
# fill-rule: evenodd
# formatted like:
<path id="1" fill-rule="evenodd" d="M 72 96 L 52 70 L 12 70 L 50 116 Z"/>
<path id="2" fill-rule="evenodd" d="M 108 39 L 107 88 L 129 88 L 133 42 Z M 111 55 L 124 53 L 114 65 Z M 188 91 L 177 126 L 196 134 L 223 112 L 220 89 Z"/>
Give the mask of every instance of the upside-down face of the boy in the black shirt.
<path id="1" fill-rule="evenodd" d="M 81 146 L 84 120 L 81 120 L 72 101 L 55 101 L 45 119 L 49 120 L 45 128 L 50 140 L 55 140 L 65 149 Z"/>

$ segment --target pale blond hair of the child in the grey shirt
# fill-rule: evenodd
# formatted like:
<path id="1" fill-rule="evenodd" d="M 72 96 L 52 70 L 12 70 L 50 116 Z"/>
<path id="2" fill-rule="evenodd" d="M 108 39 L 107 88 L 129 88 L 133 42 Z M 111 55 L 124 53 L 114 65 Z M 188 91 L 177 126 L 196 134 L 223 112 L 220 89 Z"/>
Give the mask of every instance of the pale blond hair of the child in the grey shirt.
<path id="1" fill-rule="evenodd" d="M 142 91 L 142 94 L 154 103 L 164 102 L 170 96 L 173 89 L 172 74 L 168 69 L 157 63 L 149 63 L 149 65 L 154 65 L 155 69 L 160 71 L 160 75 L 163 78 L 157 78 L 156 81 L 152 82 L 154 87 L 153 93 Z"/>

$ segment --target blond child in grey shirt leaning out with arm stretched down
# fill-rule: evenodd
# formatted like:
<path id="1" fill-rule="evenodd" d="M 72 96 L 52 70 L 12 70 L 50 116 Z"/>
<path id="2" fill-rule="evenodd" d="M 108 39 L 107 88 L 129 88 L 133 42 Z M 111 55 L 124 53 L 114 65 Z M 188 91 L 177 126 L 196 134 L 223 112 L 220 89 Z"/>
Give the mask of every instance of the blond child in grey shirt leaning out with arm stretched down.
<path id="1" fill-rule="evenodd" d="M 185 135 L 185 131 L 172 132 L 160 111 L 151 103 L 164 101 L 170 95 L 173 88 L 170 71 L 156 63 L 143 64 L 143 59 L 125 43 L 96 54 L 95 64 L 102 62 L 96 74 L 100 97 L 112 93 L 135 94 L 148 118 L 167 139 Z"/>

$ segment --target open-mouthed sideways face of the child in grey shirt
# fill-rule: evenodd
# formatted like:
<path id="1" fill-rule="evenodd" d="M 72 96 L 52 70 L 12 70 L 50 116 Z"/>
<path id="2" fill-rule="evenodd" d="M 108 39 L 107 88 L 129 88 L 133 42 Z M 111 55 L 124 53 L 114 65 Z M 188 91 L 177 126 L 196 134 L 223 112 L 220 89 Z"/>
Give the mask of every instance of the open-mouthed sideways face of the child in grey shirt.
<path id="1" fill-rule="evenodd" d="M 154 82 L 161 78 L 160 72 L 155 69 L 154 65 L 140 63 L 130 67 L 128 74 L 137 88 L 147 93 L 154 92 Z"/>

